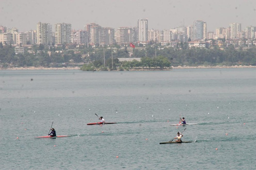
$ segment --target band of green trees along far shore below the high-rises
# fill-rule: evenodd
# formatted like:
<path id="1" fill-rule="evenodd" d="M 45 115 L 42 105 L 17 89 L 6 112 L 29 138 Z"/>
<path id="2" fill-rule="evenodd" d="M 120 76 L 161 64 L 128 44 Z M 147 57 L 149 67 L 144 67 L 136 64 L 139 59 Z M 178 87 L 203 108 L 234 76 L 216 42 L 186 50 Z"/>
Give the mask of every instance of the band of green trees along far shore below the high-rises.
<path id="1" fill-rule="evenodd" d="M 156 45 L 157 47 L 155 47 Z M 172 66 L 179 65 L 256 65 L 256 47 L 253 46 L 247 50 L 243 48 L 235 49 L 233 45 L 220 49 L 217 45 L 210 48 L 188 48 L 188 43 L 178 43 L 175 47 L 165 47 L 161 44 L 148 45 L 146 47 L 132 49 L 132 56 L 127 47 L 121 48 L 114 45 L 113 49 L 103 49 L 103 47 L 80 46 L 77 49 L 66 49 L 63 47 L 53 48 L 34 45 L 30 54 L 27 51 L 24 54 L 15 54 L 14 47 L 10 45 L 3 46 L 0 43 L 0 66 L 51 66 L 51 63 L 92 63 L 95 68 L 105 67 L 110 69 L 115 67 L 168 67 L 168 62 Z M 56 51 L 61 50 L 62 53 Z M 130 50 L 130 49 L 129 49 Z M 112 53 L 113 51 L 113 53 Z M 51 54 L 49 53 L 51 52 Z M 112 66 L 113 56 L 113 66 Z M 124 62 L 120 63 L 117 58 L 142 58 L 142 63 Z M 160 60 L 161 62 L 157 61 Z M 150 61 L 149 61 L 150 60 Z M 162 61 L 164 60 L 164 61 Z M 167 62 L 168 61 L 168 62 Z M 156 64 L 157 63 L 157 64 Z"/>

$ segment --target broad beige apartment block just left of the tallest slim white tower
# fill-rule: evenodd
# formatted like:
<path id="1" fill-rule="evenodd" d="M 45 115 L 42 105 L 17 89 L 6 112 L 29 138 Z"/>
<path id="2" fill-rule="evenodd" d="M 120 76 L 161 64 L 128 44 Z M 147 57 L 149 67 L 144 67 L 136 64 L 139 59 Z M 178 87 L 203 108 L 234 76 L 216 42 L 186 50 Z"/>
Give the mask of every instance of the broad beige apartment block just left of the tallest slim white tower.
<path id="1" fill-rule="evenodd" d="M 128 44 L 132 41 L 132 27 L 119 27 L 116 30 L 116 42 Z"/>

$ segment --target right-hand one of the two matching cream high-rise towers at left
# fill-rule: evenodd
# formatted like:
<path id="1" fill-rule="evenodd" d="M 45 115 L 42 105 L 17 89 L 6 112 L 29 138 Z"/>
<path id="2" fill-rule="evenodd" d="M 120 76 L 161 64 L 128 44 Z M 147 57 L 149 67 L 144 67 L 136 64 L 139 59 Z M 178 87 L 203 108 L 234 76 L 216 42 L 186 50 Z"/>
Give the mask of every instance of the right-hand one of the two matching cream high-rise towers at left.
<path id="1" fill-rule="evenodd" d="M 55 24 L 55 44 L 71 43 L 71 24 L 58 23 Z"/>

